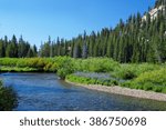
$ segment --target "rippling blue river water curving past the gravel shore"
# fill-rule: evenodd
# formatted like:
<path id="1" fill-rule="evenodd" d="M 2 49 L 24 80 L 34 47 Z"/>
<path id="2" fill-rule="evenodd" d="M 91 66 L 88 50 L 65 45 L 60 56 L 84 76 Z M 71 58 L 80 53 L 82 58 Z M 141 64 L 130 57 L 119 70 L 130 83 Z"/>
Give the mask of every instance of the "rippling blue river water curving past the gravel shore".
<path id="1" fill-rule="evenodd" d="M 1 73 L 19 96 L 17 111 L 154 111 L 166 102 L 89 90 L 65 83 L 54 73 Z"/>

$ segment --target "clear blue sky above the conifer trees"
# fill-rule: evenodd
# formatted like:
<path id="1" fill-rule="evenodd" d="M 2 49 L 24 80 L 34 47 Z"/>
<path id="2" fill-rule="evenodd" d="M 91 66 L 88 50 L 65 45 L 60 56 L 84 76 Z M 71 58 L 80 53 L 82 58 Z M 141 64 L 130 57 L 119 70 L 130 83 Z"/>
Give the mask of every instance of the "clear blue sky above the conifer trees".
<path id="1" fill-rule="evenodd" d="M 38 47 L 56 37 L 71 39 L 84 30 L 115 27 L 122 18 L 143 13 L 155 0 L 0 0 L 0 38 L 21 34 Z"/>

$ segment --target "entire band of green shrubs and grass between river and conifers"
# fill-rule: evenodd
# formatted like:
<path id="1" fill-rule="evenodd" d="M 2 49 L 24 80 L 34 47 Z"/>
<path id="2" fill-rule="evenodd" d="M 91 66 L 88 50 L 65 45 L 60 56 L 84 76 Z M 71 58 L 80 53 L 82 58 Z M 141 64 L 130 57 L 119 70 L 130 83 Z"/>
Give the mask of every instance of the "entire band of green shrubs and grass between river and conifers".
<path id="1" fill-rule="evenodd" d="M 121 86 L 166 93 L 165 63 L 118 63 L 108 58 L 1 58 L 0 71 L 56 72 L 61 79 L 77 83 Z"/>

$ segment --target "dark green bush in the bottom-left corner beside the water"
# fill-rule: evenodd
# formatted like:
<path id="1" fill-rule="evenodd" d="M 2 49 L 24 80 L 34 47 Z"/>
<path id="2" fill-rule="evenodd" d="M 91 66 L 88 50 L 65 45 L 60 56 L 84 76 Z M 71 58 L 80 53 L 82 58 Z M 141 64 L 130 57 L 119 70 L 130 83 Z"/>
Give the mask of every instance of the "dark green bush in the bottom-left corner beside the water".
<path id="1" fill-rule="evenodd" d="M 0 111 L 10 111 L 18 106 L 17 93 L 11 87 L 3 87 L 0 81 Z"/>

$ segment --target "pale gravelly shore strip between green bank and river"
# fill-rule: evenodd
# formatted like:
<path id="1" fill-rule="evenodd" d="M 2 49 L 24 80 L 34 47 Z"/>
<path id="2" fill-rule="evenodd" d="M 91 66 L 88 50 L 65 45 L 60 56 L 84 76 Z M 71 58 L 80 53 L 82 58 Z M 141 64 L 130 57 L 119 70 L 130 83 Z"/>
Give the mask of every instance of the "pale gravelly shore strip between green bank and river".
<path id="1" fill-rule="evenodd" d="M 81 84 L 81 83 L 70 82 L 68 80 L 66 82 L 74 84 L 74 86 L 81 86 L 91 90 L 97 90 L 102 92 L 116 93 L 116 94 L 151 99 L 151 100 L 157 100 L 157 101 L 166 101 L 166 94 L 157 93 L 153 91 L 136 90 L 136 89 L 123 88 L 123 87 L 117 87 L 117 86 L 106 87 L 106 86 L 96 86 L 96 84 Z"/>

